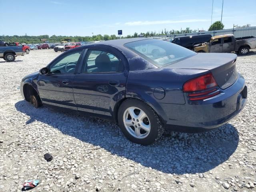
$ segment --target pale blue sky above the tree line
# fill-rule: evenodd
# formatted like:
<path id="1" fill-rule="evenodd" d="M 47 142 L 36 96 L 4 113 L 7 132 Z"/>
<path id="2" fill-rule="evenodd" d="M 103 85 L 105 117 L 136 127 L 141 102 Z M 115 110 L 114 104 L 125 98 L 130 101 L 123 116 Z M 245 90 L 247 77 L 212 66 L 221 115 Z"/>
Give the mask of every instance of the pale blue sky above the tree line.
<path id="1" fill-rule="evenodd" d="M 0 35 L 123 35 L 134 32 L 207 30 L 212 0 L 0 0 Z M 256 0 L 224 0 L 224 28 L 256 26 Z M 214 0 L 213 22 L 221 18 L 222 0 Z"/>

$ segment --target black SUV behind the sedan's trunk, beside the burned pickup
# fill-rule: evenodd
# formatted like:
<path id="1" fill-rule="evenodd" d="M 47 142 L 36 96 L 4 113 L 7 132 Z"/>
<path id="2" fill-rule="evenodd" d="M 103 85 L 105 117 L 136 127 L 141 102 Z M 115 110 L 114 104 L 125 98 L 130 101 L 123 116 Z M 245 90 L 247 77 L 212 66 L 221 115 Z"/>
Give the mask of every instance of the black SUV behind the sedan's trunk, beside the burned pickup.
<path id="1" fill-rule="evenodd" d="M 190 50 L 193 50 L 195 44 L 200 44 L 208 42 L 212 38 L 211 34 L 202 34 L 202 35 L 190 35 L 190 36 L 180 36 L 175 37 L 170 40 L 170 42 L 186 47 Z"/>

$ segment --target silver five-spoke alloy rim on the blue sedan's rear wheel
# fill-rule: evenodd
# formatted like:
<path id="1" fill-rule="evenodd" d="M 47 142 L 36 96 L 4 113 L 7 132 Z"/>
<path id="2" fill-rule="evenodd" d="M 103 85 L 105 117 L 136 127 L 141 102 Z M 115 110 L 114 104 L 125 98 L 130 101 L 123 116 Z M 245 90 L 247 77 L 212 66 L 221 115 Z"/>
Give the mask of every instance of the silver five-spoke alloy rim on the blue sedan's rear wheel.
<path id="1" fill-rule="evenodd" d="M 150 133 L 150 120 L 138 107 L 129 107 L 124 111 L 123 122 L 126 130 L 134 138 L 143 139 Z"/>

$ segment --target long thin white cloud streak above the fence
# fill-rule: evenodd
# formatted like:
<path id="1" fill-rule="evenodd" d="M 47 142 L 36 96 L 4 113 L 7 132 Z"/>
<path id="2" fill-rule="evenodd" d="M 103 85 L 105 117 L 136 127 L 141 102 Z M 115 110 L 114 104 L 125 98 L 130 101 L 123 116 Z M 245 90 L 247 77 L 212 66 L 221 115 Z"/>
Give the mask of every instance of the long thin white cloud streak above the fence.
<path id="1" fill-rule="evenodd" d="M 126 22 L 124 25 L 127 26 L 138 26 L 138 25 L 156 25 L 156 24 L 170 24 L 170 23 L 192 23 L 192 22 L 206 22 L 208 19 L 186 19 L 186 20 L 163 20 L 163 21 L 134 21 Z"/>

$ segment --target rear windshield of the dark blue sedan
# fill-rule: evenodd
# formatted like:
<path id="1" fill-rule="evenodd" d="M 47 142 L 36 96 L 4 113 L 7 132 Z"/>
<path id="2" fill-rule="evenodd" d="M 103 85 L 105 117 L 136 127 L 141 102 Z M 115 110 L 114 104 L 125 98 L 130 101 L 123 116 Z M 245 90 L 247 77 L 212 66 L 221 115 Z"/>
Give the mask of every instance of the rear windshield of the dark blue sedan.
<path id="1" fill-rule="evenodd" d="M 156 39 L 139 40 L 124 44 L 157 67 L 173 64 L 196 53 L 182 46 Z"/>

